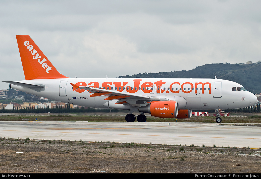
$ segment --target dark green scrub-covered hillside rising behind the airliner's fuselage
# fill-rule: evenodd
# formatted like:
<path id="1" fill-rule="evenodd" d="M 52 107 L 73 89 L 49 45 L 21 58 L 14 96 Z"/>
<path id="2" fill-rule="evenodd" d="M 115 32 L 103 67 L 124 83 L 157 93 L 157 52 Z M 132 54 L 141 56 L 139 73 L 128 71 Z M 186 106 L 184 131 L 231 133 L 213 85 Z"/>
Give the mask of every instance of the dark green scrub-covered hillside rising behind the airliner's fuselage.
<path id="1" fill-rule="evenodd" d="M 229 63 L 206 64 L 192 70 L 159 73 L 139 73 L 119 78 L 215 78 L 230 80 L 244 86 L 252 93 L 261 93 L 261 64 L 239 65 Z"/>

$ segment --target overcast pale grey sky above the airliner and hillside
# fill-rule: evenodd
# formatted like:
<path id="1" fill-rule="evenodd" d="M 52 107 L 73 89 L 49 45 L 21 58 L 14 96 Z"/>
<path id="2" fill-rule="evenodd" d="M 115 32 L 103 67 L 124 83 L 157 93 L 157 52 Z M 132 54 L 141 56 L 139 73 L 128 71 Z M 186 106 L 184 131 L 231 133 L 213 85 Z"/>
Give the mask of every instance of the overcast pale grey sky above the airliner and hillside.
<path id="1" fill-rule="evenodd" d="M 1 0 L 1 81 L 25 79 L 15 35 L 29 35 L 72 78 L 257 62 L 260 7 L 260 0 Z"/>

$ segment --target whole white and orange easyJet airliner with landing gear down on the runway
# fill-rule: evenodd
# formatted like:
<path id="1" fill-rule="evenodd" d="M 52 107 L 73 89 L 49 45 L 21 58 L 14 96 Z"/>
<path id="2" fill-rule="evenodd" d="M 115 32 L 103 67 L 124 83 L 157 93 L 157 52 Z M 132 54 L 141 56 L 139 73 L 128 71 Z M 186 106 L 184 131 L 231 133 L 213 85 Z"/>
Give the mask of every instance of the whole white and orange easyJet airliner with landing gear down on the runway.
<path id="1" fill-rule="evenodd" d="M 222 79 L 68 78 L 60 74 L 28 35 L 16 35 L 25 80 L 4 81 L 10 88 L 68 104 L 128 110 L 127 122 L 189 118 L 192 110 L 219 111 L 254 105 L 257 97 L 242 85 Z"/>

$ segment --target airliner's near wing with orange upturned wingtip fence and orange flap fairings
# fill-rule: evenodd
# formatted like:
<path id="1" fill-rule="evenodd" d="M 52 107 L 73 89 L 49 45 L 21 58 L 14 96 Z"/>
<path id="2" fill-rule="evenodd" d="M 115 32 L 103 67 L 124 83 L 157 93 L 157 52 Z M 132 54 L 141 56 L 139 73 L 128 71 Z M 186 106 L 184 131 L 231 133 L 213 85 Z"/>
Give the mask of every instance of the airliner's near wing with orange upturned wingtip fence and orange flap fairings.
<path id="1" fill-rule="evenodd" d="M 90 97 L 104 95 L 104 96 L 108 96 L 108 98 L 105 98 L 104 100 L 118 99 L 117 103 L 115 103 L 115 104 L 125 104 L 126 103 L 126 104 L 131 104 L 134 106 L 139 106 L 139 104 L 148 104 L 147 102 L 151 102 L 151 101 L 168 101 L 169 100 L 166 98 L 155 98 L 155 97 L 150 97 L 150 96 L 146 96 L 146 95 L 124 93 L 124 92 L 119 92 L 119 91 L 111 91 L 108 89 L 93 88 L 93 87 L 87 87 L 87 86 L 83 87 L 83 86 L 74 85 L 72 83 L 70 83 L 70 84 L 73 86 L 73 91 L 75 89 L 79 88 L 79 89 L 85 89 L 88 92 L 93 93 L 90 95 Z"/>

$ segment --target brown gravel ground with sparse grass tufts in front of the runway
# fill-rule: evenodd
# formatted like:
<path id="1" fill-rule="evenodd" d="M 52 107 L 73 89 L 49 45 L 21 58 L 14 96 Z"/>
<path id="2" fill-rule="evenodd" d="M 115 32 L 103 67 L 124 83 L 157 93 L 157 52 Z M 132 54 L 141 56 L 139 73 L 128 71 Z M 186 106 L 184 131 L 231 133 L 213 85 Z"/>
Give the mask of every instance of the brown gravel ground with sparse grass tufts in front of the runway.
<path id="1" fill-rule="evenodd" d="M 260 162 L 261 149 L 0 139 L 0 173 L 260 173 Z"/>

